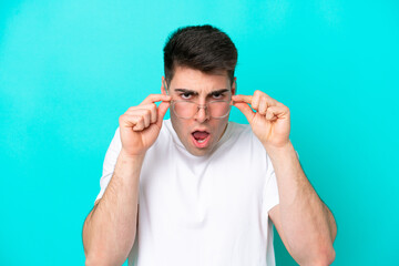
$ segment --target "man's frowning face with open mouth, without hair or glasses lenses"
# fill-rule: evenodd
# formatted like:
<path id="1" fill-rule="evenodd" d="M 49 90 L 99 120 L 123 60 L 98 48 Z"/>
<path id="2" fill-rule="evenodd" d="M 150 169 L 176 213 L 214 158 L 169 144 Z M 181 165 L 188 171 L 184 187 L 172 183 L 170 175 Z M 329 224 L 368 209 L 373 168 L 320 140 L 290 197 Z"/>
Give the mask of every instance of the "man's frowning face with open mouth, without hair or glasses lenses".
<path id="1" fill-rule="evenodd" d="M 227 71 L 206 74 L 200 70 L 176 66 L 167 90 L 173 101 L 187 100 L 201 106 L 208 106 L 207 103 L 211 101 L 231 101 L 232 94 L 235 93 L 235 82 L 232 86 Z M 162 86 L 162 92 L 165 93 L 164 86 Z M 171 122 L 178 139 L 185 149 L 196 156 L 203 156 L 214 149 L 228 122 L 228 115 L 214 119 L 207 109 L 201 108 L 191 119 L 177 117 L 173 110 L 170 112 Z"/>

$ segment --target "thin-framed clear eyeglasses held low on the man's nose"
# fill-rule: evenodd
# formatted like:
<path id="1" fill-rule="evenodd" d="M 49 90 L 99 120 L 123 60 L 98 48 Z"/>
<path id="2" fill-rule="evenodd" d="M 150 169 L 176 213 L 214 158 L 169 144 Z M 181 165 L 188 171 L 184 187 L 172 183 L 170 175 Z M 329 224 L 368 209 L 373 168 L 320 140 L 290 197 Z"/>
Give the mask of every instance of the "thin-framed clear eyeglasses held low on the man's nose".
<path id="1" fill-rule="evenodd" d="M 200 111 L 205 109 L 213 119 L 226 117 L 232 109 L 229 101 L 211 101 L 204 105 L 192 101 L 171 101 L 171 108 L 180 119 L 192 119 Z"/>

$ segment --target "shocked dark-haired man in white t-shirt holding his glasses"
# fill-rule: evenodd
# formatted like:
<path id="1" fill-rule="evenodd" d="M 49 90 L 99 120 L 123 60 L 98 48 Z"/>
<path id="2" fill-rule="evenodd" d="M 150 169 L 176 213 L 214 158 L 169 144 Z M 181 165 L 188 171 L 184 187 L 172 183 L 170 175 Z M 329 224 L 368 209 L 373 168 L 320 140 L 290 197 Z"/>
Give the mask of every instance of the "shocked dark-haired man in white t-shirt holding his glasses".
<path id="1" fill-rule="evenodd" d="M 86 265 L 275 265 L 273 224 L 298 264 L 332 263 L 335 219 L 289 141 L 289 110 L 236 95 L 236 62 L 211 25 L 170 37 L 162 94 L 120 116 L 105 155 Z M 249 125 L 228 122 L 232 105 Z"/>

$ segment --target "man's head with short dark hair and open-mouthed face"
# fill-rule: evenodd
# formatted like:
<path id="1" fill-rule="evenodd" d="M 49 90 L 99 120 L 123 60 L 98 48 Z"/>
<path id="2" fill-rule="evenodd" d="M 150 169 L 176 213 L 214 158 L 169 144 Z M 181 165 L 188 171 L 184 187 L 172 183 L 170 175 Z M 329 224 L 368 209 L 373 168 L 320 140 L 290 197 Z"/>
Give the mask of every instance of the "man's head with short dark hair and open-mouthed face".
<path id="1" fill-rule="evenodd" d="M 212 25 L 177 29 L 164 47 L 162 92 L 168 93 L 173 102 L 200 104 L 192 117 L 184 119 L 176 114 L 173 102 L 171 105 L 173 127 L 186 150 L 194 155 L 209 153 L 227 126 L 228 113 L 215 117 L 214 111 L 221 105 L 208 103 L 231 101 L 236 90 L 236 63 L 234 43 L 226 33 Z"/>

